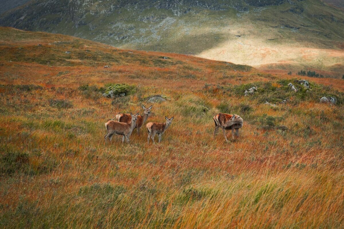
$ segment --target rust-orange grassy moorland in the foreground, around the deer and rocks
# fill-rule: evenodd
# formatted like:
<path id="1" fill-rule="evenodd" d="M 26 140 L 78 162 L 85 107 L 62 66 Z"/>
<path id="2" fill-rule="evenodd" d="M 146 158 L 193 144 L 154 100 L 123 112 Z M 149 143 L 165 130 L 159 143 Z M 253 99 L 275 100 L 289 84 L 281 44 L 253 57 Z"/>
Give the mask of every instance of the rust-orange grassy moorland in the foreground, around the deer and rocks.
<path id="1" fill-rule="evenodd" d="M 0 227 L 343 228 L 343 80 L 298 79 L 2 27 Z M 104 98 L 112 83 L 131 93 Z M 143 128 L 105 145 L 104 123 L 142 104 L 174 116 L 161 144 Z M 245 122 L 228 144 L 220 111 Z"/>

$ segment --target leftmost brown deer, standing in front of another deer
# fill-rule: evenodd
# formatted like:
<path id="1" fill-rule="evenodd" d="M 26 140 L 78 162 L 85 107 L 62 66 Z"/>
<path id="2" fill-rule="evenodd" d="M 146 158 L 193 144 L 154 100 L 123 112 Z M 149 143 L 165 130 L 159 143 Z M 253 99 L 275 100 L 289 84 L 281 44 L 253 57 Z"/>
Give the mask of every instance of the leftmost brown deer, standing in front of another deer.
<path id="1" fill-rule="evenodd" d="M 131 117 L 130 123 L 120 123 L 120 122 L 112 121 L 112 120 L 105 123 L 105 127 L 107 130 L 107 133 L 104 136 L 105 143 L 106 143 L 107 138 L 111 142 L 111 138 L 113 134 L 123 135 L 122 143 L 124 142 L 124 138 L 126 138 L 127 142 L 129 143 L 129 137 L 131 135 L 131 132 L 136 126 L 136 121 L 137 121 L 138 116 L 139 116 L 139 113 L 134 115 L 130 112 L 130 117 Z"/>

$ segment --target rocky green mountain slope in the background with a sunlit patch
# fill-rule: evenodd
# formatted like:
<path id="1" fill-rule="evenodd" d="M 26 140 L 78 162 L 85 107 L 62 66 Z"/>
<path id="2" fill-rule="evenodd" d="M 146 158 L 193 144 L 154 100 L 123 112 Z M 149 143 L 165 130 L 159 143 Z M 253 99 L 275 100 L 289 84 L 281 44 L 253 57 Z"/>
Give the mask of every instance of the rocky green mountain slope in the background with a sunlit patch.
<path id="1" fill-rule="evenodd" d="M 262 69 L 344 71 L 344 12 L 320 0 L 34 0 L 0 25 Z"/>

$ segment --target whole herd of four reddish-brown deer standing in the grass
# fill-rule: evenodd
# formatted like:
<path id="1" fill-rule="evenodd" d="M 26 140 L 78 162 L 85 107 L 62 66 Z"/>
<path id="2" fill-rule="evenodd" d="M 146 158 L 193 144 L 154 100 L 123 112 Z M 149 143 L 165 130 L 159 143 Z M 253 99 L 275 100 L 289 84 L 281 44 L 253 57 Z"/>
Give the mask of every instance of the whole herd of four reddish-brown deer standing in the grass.
<path id="1" fill-rule="evenodd" d="M 116 121 L 110 120 L 107 123 L 105 123 L 105 127 L 107 130 L 107 133 L 105 135 L 105 142 L 107 139 L 111 142 L 112 135 L 122 135 L 122 143 L 124 142 L 124 139 L 129 142 L 129 137 L 132 133 L 132 131 L 137 128 L 137 134 L 140 135 L 140 128 L 142 127 L 143 123 L 145 123 L 150 115 L 150 110 L 152 106 L 146 108 L 144 105 L 142 105 L 143 108 L 143 115 L 141 116 L 139 113 L 137 114 L 118 114 L 116 115 Z M 147 141 L 149 144 L 149 139 L 151 138 L 153 143 L 154 136 L 158 134 L 159 136 L 159 143 L 161 142 L 161 136 L 165 133 L 166 129 L 172 124 L 172 118 L 168 118 L 165 116 L 166 122 L 165 123 L 147 123 L 146 128 L 148 130 L 148 137 Z M 213 117 L 213 120 L 215 122 L 215 131 L 214 131 L 214 138 L 215 134 L 219 127 L 222 128 L 223 135 L 225 136 L 226 141 L 228 142 L 228 139 L 225 134 L 225 130 L 232 130 L 232 139 L 234 140 L 234 130 L 235 135 L 239 137 L 239 128 L 243 127 L 243 119 L 239 115 L 230 115 L 230 114 L 224 114 L 219 113 Z"/>

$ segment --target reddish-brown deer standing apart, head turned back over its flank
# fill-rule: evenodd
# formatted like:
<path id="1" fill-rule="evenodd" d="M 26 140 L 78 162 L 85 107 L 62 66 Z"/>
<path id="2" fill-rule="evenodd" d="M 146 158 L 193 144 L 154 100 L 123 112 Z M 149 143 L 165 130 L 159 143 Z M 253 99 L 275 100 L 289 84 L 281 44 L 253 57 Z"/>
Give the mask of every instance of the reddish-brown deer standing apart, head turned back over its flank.
<path id="1" fill-rule="evenodd" d="M 232 140 L 234 140 L 234 130 L 236 131 L 236 136 L 239 137 L 239 128 L 243 127 L 244 124 L 244 120 L 239 115 L 219 113 L 215 115 L 213 119 L 215 122 L 214 138 L 219 127 L 222 128 L 223 135 L 225 136 L 227 142 L 228 140 L 225 134 L 225 129 L 232 129 Z"/>

